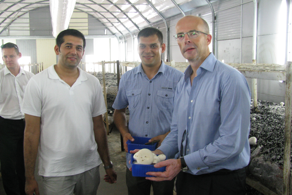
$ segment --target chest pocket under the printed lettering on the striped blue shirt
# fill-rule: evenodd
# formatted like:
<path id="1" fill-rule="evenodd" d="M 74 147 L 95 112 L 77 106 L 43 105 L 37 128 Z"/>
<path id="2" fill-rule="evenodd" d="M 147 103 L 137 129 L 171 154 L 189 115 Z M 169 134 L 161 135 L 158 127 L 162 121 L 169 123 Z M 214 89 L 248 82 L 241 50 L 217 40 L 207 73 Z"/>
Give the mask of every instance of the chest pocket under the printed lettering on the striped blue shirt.
<path id="1" fill-rule="evenodd" d="M 171 91 L 157 91 L 157 106 L 159 110 L 173 109 L 174 92 Z"/>

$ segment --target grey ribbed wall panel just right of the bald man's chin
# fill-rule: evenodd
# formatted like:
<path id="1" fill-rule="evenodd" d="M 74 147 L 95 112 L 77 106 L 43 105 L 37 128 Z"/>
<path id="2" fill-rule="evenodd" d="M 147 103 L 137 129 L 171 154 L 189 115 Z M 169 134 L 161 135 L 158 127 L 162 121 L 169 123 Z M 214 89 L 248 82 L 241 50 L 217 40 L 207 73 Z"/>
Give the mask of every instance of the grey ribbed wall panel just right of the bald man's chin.
<path id="1" fill-rule="evenodd" d="M 240 63 L 240 39 L 217 41 L 218 60 L 228 63 Z"/>

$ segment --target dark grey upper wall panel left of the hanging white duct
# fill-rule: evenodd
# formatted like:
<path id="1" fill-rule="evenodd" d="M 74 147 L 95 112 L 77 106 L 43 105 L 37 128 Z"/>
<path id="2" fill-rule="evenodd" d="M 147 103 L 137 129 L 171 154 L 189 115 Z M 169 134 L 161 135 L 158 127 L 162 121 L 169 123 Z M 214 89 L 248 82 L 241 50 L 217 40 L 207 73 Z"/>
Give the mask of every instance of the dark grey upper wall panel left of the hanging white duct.
<path id="1" fill-rule="evenodd" d="M 51 36 L 53 35 L 52 32 L 53 27 L 49 7 L 36 9 L 30 12 L 31 36 Z"/>

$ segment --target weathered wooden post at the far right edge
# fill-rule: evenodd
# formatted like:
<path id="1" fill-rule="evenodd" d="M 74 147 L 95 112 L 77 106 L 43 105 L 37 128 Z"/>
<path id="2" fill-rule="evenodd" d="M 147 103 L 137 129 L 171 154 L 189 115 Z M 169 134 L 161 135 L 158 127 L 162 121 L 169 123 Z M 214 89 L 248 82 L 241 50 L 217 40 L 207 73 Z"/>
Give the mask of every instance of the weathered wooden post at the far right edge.
<path id="1" fill-rule="evenodd" d="M 292 111 L 291 83 L 292 83 L 292 66 L 291 62 L 286 62 L 283 195 L 290 195 L 291 111 Z"/>

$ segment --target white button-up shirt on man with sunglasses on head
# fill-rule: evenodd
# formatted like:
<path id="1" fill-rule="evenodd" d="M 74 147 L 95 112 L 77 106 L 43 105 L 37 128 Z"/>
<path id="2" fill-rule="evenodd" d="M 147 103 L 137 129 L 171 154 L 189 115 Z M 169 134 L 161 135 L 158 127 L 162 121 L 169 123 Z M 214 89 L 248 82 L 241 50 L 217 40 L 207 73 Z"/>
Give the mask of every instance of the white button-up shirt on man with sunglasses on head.
<path id="1" fill-rule="evenodd" d="M 23 119 L 24 113 L 20 112 L 26 85 L 34 74 L 22 68 L 14 76 L 10 70 L 0 70 L 0 116 L 5 119 Z"/>

